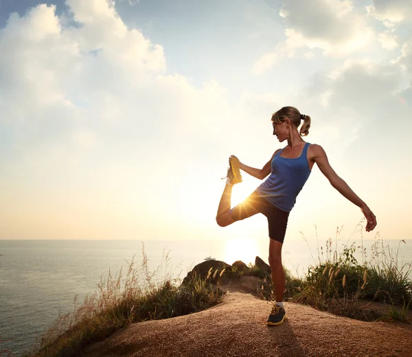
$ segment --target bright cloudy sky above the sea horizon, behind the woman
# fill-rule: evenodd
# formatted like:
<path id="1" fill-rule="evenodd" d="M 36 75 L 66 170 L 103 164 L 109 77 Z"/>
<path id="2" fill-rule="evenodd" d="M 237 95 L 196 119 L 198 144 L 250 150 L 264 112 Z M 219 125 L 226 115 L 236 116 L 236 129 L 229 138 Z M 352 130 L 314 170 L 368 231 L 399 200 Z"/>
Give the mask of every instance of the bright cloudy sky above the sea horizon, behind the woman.
<path id="1" fill-rule="evenodd" d="M 378 221 L 315 165 L 286 239 L 412 238 L 411 34 L 409 0 L 0 0 L 0 239 L 267 239 L 215 217 L 286 105 Z"/>

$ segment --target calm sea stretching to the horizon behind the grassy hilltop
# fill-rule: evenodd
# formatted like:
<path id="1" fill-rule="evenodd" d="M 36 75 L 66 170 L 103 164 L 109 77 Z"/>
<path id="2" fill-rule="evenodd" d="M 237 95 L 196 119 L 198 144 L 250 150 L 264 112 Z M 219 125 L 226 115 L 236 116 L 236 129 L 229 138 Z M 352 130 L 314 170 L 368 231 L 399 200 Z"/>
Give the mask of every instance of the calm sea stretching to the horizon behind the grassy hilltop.
<path id="1" fill-rule="evenodd" d="M 362 250 L 370 259 L 376 241 L 321 245 L 290 240 L 285 241 L 282 261 L 293 275 L 304 277 L 309 266 L 325 259 L 327 246 L 341 252 L 352 243 L 359 263 L 365 259 Z M 364 248 L 358 248 L 361 245 Z M 391 239 L 379 246 L 397 257 L 399 268 L 411 269 L 412 239 Z M 256 256 L 268 261 L 268 240 L 0 240 L 0 356 L 21 356 L 59 314 L 73 312 L 109 273 L 115 277 L 122 269 L 124 277 L 131 263 L 139 268 L 146 262 L 158 281 L 179 282 L 207 258 L 231 264 L 252 263 Z"/>

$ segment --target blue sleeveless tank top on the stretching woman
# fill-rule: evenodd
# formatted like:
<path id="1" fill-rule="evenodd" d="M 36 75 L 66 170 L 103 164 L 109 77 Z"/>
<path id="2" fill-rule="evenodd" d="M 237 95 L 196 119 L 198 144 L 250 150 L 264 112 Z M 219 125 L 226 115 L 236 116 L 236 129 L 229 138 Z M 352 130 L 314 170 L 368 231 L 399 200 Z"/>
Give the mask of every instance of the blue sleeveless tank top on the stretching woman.
<path id="1" fill-rule="evenodd" d="M 296 197 L 310 175 L 308 147 L 306 142 L 299 158 L 281 158 L 284 149 L 275 155 L 271 163 L 271 175 L 256 191 L 273 206 L 290 212 L 296 203 Z"/>

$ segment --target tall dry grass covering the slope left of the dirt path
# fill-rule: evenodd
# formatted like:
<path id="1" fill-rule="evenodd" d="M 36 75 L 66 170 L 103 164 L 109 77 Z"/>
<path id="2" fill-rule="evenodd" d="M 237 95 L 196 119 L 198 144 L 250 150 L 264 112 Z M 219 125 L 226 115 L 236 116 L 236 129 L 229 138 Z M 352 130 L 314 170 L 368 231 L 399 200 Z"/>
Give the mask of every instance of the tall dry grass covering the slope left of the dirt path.
<path id="1" fill-rule="evenodd" d="M 95 293 L 87 295 L 79 307 L 75 299 L 74 311 L 58 316 L 23 356 L 78 356 L 87 345 L 104 340 L 130 323 L 190 314 L 222 300 L 224 292 L 209 280 L 221 277 L 224 270 L 210 270 L 206 279 L 194 274 L 184 284 L 171 279 L 170 274 L 157 279 L 163 265 L 156 272 L 149 272 L 144 247 L 142 252 L 141 266 L 136 266 L 133 257 L 124 279 L 122 269 L 115 277 L 109 271 Z M 168 255 L 163 255 L 163 260 L 168 262 Z"/>

